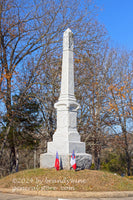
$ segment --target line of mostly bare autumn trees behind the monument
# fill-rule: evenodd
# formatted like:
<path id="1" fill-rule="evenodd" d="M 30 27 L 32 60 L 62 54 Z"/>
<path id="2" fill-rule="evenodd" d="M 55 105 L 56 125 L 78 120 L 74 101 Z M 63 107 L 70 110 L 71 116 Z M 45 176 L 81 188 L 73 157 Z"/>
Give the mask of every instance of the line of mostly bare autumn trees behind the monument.
<path id="1" fill-rule="evenodd" d="M 91 0 L 0 1 L 0 170 L 18 171 L 20 161 L 28 162 L 31 151 L 46 151 L 52 140 L 62 35 L 69 27 L 86 150 L 95 169 L 133 173 L 132 52 L 110 47 L 97 13 Z M 112 159 L 118 169 L 110 167 Z"/>

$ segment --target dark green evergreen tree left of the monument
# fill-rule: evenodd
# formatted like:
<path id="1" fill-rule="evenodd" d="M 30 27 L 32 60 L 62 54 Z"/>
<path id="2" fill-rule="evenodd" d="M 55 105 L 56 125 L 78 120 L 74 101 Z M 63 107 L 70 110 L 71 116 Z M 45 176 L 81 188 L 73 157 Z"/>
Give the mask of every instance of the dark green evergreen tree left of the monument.
<path id="1" fill-rule="evenodd" d="M 20 100 L 21 99 L 21 100 Z M 39 143 L 38 131 L 41 126 L 39 103 L 35 98 L 15 95 L 12 105 L 13 123 L 8 134 L 10 149 L 10 172 L 18 170 L 18 147 L 33 149 Z M 7 116 L 4 119 L 8 124 Z"/>

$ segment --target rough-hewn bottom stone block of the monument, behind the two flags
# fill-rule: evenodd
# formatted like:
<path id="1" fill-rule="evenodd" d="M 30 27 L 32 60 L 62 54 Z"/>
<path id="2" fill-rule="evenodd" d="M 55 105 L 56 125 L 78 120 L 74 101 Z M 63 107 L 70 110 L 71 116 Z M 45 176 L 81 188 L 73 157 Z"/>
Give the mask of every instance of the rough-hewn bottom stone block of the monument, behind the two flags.
<path id="1" fill-rule="evenodd" d="M 77 153 L 76 157 L 76 165 L 77 169 L 89 169 L 92 163 L 92 156 L 87 153 Z M 54 168 L 55 165 L 55 154 L 44 153 L 40 155 L 40 168 Z M 59 155 L 60 167 L 62 169 L 69 170 L 71 168 L 70 165 L 71 154 L 68 155 Z"/>

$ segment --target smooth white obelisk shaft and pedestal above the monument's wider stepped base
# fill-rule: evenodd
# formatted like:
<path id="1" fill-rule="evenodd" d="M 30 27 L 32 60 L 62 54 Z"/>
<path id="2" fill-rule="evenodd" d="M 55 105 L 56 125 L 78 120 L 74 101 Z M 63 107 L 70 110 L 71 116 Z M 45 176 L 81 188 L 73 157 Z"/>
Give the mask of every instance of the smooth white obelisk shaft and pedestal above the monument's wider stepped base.
<path id="1" fill-rule="evenodd" d="M 77 109 L 79 104 L 74 96 L 73 46 L 73 33 L 70 29 L 67 29 L 63 35 L 61 92 L 59 101 L 55 103 L 57 129 L 53 136 L 53 141 L 80 142 L 80 136 L 77 132 Z"/>

